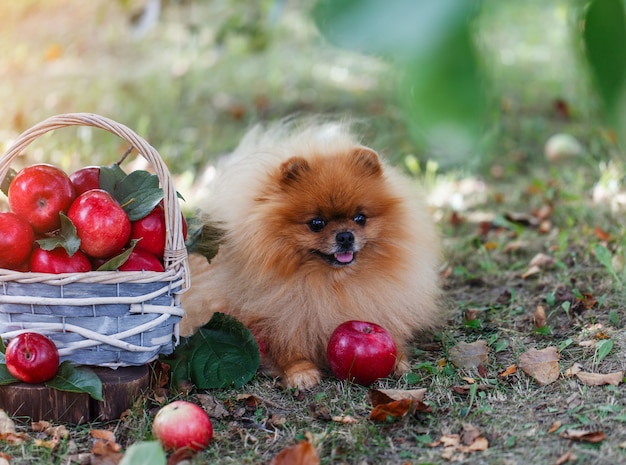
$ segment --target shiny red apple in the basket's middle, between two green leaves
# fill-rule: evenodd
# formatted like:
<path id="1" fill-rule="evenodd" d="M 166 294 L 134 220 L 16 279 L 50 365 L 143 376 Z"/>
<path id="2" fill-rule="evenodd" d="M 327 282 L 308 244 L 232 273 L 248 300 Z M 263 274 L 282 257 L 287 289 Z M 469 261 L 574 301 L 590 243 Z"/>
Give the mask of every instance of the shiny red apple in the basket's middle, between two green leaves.
<path id="1" fill-rule="evenodd" d="M 119 252 L 130 236 L 130 220 L 124 209 L 102 189 L 79 195 L 67 212 L 80 238 L 80 248 L 95 258 Z"/>

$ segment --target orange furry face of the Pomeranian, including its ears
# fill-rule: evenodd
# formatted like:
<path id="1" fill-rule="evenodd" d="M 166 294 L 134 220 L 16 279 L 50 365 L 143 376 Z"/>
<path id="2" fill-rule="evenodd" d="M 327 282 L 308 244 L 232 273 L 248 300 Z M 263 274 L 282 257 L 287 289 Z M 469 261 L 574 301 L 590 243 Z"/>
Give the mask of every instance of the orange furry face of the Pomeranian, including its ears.
<path id="1" fill-rule="evenodd" d="M 265 207 L 267 246 L 275 239 L 266 247 L 274 250 L 268 258 L 274 271 L 359 266 L 390 226 L 386 217 L 396 199 L 387 193 L 378 156 L 365 147 L 290 158 L 274 181 L 257 199 Z"/>

